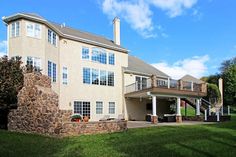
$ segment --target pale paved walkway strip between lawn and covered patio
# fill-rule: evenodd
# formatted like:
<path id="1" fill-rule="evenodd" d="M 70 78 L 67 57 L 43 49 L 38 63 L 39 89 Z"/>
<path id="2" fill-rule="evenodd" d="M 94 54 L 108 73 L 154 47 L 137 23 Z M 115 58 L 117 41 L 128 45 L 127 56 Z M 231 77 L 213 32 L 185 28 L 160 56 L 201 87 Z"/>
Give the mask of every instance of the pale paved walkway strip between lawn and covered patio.
<path id="1" fill-rule="evenodd" d="M 199 124 L 214 124 L 216 122 L 200 122 L 200 121 L 183 121 L 182 123 L 176 122 L 165 122 L 165 123 L 157 123 L 152 124 L 151 122 L 146 121 L 128 121 L 128 128 L 146 128 L 153 126 L 178 126 L 178 125 L 199 125 Z"/>

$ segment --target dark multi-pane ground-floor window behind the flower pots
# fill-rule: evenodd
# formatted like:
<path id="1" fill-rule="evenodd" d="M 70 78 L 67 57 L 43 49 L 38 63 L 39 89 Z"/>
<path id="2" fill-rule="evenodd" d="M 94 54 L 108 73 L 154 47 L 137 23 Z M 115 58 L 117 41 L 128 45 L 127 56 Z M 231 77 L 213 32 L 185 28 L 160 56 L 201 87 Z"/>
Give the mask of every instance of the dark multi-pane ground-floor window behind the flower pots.
<path id="1" fill-rule="evenodd" d="M 90 102 L 74 101 L 74 113 L 90 118 Z"/>

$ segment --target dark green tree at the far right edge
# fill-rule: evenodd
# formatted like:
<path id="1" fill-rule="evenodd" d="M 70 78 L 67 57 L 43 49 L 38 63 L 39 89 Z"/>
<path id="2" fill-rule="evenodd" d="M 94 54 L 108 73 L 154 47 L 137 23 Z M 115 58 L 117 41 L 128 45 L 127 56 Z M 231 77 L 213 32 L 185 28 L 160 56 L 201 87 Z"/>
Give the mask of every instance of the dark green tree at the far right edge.
<path id="1" fill-rule="evenodd" d="M 222 76 L 224 80 L 224 104 L 236 105 L 236 63 L 225 69 Z"/>

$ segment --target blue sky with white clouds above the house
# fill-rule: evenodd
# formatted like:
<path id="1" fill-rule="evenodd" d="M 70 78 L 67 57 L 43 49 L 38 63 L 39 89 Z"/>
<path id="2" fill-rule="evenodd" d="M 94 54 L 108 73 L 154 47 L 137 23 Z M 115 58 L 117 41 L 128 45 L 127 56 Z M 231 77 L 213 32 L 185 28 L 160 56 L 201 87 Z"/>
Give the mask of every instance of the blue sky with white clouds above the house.
<path id="1" fill-rule="evenodd" d="M 33 12 L 57 23 L 113 39 L 121 19 L 121 45 L 174 78 L 214 74 L 236 56 L 235 0 L 1 0 L 0 16 Z M 0 54 L 6 26 L 0 23 Z"/>

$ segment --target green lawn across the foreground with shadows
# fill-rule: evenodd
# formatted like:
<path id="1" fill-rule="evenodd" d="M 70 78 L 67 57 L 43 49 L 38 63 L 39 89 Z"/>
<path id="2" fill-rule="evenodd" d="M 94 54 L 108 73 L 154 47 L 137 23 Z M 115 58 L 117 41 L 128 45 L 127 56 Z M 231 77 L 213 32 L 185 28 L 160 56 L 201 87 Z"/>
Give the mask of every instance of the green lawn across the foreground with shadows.
<path id="1" fill-rule="evenodd" d="M 1 157 L 235 156 L 236 115 L 230 122 L 129 129 L 123 133 L 52 138 L 0 131 Z"/>

